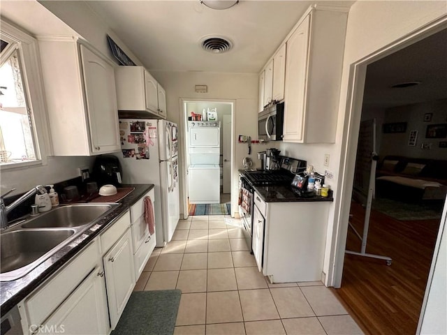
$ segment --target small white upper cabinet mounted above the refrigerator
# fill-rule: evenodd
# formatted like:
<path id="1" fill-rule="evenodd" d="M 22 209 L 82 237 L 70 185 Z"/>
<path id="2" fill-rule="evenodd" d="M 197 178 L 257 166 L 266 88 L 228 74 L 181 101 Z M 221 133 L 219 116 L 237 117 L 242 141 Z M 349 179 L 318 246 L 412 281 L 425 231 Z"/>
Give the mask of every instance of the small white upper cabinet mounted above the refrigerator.
<path id="1" fill-rule="evenodd" d="M 115 69 L 118 110 L 123 116 L 166 119 L 166 92 L 142 66 Z M 128 113 L 130 112 L 130 113 Z"/>

